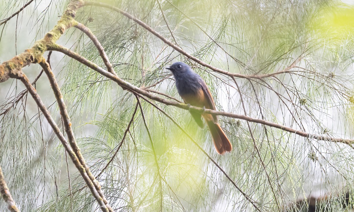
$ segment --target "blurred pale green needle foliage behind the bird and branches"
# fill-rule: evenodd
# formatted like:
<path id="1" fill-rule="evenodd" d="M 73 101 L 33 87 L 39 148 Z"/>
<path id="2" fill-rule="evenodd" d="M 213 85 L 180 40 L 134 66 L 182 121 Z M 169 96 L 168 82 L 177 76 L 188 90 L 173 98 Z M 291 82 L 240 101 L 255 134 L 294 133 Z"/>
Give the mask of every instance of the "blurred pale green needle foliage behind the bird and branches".
<path id="1" fill-rule="evenodd" d="M 1 22 L 27 2 L 0 0 L 0 63 L 33 46 L 55 26 L 68 4 L 34 0 Z M 132 14 L 185 52 L 225 71 L 261 75 L 286 70 L 262 79 L 233 81 L 186 58 L 117 12 L 80 8 L 76 20 L 96 35 L 123 80 L 146 87 L 166 78 L 150 92 L 182 101 L 165 67 L 183 61 L 204 78 L 219 111 L 353 139 L 354 1 L 101 2 Z M 78 29 L 70 28 L 57 43 L 104 67 L 92 41 Z M 53 52 L 50 64 L 92 173 L 97 176 L 118 152 L 97 178 L 115 211 L 256 211 L 188 136 L 148 102 L 140 99 L 147 130 L 142 111 L 133 113 L 137 104 L 133 94 L 62 53 Z M 34 81 L 41 68 L 31 64 L 23 71 Z M 45 74 L 35 87 L 62 127 Z M 0 85 L 0 165 L 18 208 L 100 211 L 32 97 L 22 95 L 23 89 L 13 79 Z M 353 189 L 353 145 L 219 117 L 233 151 L 218 155 L 208 129 L 200 129 L 187 110 L 154 103 L 215 159 L 261 211 L 296 211 L 294 202 L 304 206 L 302 211 L 311 211 L 313 200 L 321 202 L 317 211 L 351 210 L 353 197 L 344 194 Z M 349 207 L 343 207 L 343 201 Z M 2 199 L 0 210 L 6 211 Z"/>

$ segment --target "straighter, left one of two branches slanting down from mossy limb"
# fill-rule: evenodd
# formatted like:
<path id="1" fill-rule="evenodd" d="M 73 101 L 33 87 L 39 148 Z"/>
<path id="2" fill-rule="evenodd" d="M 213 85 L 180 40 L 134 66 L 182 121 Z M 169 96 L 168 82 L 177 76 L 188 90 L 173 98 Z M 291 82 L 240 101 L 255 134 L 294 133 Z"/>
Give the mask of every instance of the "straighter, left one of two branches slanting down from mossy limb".
<path id="1" fill-rule="evenodd" d="M 74 165 L 79 170 L 82 178 L 84 179 L 84 181 L 86 182 L 86 184 L 90 188 L 91 193 L 95 197 L 98 205 L 101 207 L 101 210 L 103 212 L 110 212 L 109 208 L 106 206 L 106 204 L 102 200 L 101 195 L 96 190 L 96 187 L 93 184 L 93 182 L 91 181 L 89 175 L 87 175 L 85 167 L 81 165 L 80 160 L 76 156 L 75 152 L 72 150 L 72 148 L 70 148 L 69 143 L 65 139 L 64 135 L 61 133 L 58 125 L 55 123 L 55 121 L 51 117 L 51 115 L 50 115 L 49 111 L 47 110 L 47 108 L 44 106 L 42 100 L 40 99 L 40 97 L 39 97 L 38 93 L 36 92 L 35 88 L 29 82 L 27 76 L 24 73 L 22 73 L 20 75 L 19 79 L 22 81 L 24 86 L 27 88 L 28 92 L 32 95 L 34 101 L 36 102 L 36 104 L 38 105 L 40 110 L 42 111 L 44 117 L 47 119 L 48 123 L 53 128 L 54 133 L 57 135 L 58 139 L 63 144 L 65 151 L 67 151 L 67 153 L 69 154 L 70 158 L 72 159 Z"/>

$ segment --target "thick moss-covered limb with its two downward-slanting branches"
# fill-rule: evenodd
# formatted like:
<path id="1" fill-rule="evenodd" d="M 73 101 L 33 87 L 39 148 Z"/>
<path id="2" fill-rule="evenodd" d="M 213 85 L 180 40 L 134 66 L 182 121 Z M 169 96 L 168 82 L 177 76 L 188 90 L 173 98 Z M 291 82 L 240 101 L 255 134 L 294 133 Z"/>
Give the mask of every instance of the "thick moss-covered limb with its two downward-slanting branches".
<path id="1" fill-rule="evenodd" d="M 55 76 L 50 70 L 49 64 L 43 58 L 44 52 L 55 45 L 55 42 L 64 34 L 65 30 L 77 24 L 77 22 L 75 22 L 76 10 L 81 6 L 83 6 L 82 1 L 71 1 L 68 4 L 63 15 L 61 16 L 61 19 L 55 25 L 55 27 L 48 33 L 46 33 L 42 39 L 36 41 L 32 48 L 26 49 L 25 52 L 16 55 L 12 59 L 2 63 L 0 65 L 0 82 L 4 82 L 8 80 L 8 78 L 19 78 L 23 82 L 25 87 L 28 89 L 29 93 L 33 96 L 33 99 L 35 100 L 36 104 L 40 107 L 42 113 L 48 120 L 48 123 L 52 126 L 59 140 L 62 142 L 65 151 L 69 153 L 70 158 L 72 159 L 75 166 L 78 168 L 86 184 L 89 186 L 91 193 L 95 197 L 98 205 L 101 207 L 101 210 L 110 212 L 113 211 L 113 209 L 112 207 L 110 207 L 107 202 L 107 199 L 103 195 L 101 186 L 97 182 L 96 178 L 92 175 L 89 168 L 86 166 L 85 161 L 80 153 L 80 149 L 75 142 L 75 137 L 70 127 L 70 119 L 63 103 L 64 100 L 62 99 L 60 89 L 55 81 Z M 39 63 L 48 75 L 48 78 L 51 82 L 51 86 L 54 90 L 54 93 L 56 94 L 61 115 L 63 117 L 63 120 L 65 121 L 65 129 L 67 130 L 68 139 L 71 146 L 69 145 L 65 137 L 61 134 L 58 126 L 55 124 L 49 112 L 46 110 L 46 107 L 40 100 L 40 97 L 36 93 L 34 87 L 31 83 L 29 83 L 28 78 L 22 72 L 22 68 L 31 63 Z M 6 201 L 6 196 L 4 196 L 4 199 Z"/>

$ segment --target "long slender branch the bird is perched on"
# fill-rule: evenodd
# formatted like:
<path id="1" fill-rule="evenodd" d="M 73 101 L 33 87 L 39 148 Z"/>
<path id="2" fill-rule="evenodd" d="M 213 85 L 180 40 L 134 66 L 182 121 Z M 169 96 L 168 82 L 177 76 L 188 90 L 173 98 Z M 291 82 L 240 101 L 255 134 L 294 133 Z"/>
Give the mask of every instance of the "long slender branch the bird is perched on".
<path id="1" fill-rule="evenodd" d="M 185 110 L 192 110 L 192 111 L 196 111 L 196 112 L 199 112 L 199 113 L 205 112 L 205 113 L 218 115 L 218 116 L 226 116 L 226 117 L 230 117 L 230 118 L 243 119 L 243 120 L 246 120 L 246 121 L 249 121 L 249 122 L 254 122 L 254 123 L 258 123 L 258 124 L 264 124 L 264 125 L 272 126 L 274 128 L 278 128 L 278 129 L 287 131 L 289 133 L 294 133 L 294 134 L 300 135 L 302 137 L 307 137 L 307 138 L 310 138 L 310 139 L 316 139 L 316 140 L 319 140 L 319 141 L 339 142 L 339 143 L 345 143 L 347 145 L 350 145 L 351 143 L 354 143 L 354 139 L 342 139 L 342 138 L 334 138 L 334 137 L 310 134 L 310 133 L 306 133 L 304 131 L 296 130 L 296 129 L 293 129 L 293 128 L 290 128 L 290 127 L 287 127 L 287 126 L 284 126 L 284 125 L 281 125 L 281 124 L 269 122 L 269 121 L 263 120 L 263 119 L 257 119 L 257 118 L 252 118 L 252 117 L 249 117 L 249 116 L 244 116 L 244 115 L 234 114 L 234 113 L 228 113 L 228 112 L 223 112 L 223 111 L 214 111 L 214 110 L 210 110 L 210 109 L 203 110 L 203 108 L 200 108 L 200 107 L 188 106 L 188 105 L 183 104 L 183 103 L 170 101 L 170 100 L 161 98 L 159 96 L 153 95 L 153 94 L 147 92 L 146 90 L 138 88 L 138 87 L 130 84 L 129 82 L 126 82 L 126 81 L 122 80 L 118 76 L 115 76 L 112 73 L 109 73 L 108 71 L 105 71 L 101 67 L 97 66 L 96 64 L 94 64 L 91 61 L 87 60 L 86 58 L 80 56 L 79 54 L 71 51 L 70 49 L 67 49 L 67 48 L 65 48 L 63 46 L 60 46 L 60 45 L 53 45 L 51 50 L 62 52 L 64 54 L 68 55 L 69 57 L 74 58 L 75 60 L 79 61 L 80 63 L 82 63 L 82 64 L 90 67 L 91 69 L 101 73 L 102 75 L 110 78 L 111 80 L 116 82 L 119 86 L 121 86 L 124 89 L 130 90 L 131 92 L 135 92 L 135 93 L 138 93 L 138 94 L 142 94 L 144 96 L 147 96 L 150 99 L 159 101 L 159 102 L 161 102 L 161 103 L 163 103 L 165 105 L 173 105 L 173 106 L 185 109 Z"/>

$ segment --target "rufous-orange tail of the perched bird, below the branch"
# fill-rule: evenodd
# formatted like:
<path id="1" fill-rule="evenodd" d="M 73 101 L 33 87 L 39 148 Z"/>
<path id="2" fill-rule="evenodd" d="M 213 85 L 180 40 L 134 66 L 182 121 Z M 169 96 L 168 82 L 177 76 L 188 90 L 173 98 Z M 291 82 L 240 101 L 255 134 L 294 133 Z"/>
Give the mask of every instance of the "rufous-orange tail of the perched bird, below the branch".
<path id="1" fill-rule="evenodd" d="M 221 155 L 225 154 L 226 152 L 231 152 L 232 145 L 222 130 L 221 126 L 211 120 L 206 122 L 206 124 L 210 130 L 211 136 L 213 137 L 216 152 Z"/>

